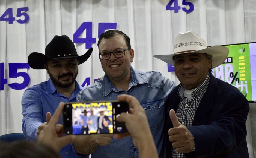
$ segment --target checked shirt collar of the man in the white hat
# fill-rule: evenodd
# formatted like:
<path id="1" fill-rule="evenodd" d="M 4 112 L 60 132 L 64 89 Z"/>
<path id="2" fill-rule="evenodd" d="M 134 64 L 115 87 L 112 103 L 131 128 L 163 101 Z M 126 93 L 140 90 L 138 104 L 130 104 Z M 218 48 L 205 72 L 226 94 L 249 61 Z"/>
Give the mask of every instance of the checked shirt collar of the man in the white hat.
<path id="1" fill-rule="evenodd" d="M 210 74 L 208 73 L 206 79 L 192 92 L 192 94 L 191 94 L 192 98 L 198 96 L 198 94 L 200 94 L 204 89 L 207 88 L 207 86 L 209 84 L 209 79 L 210 79 Z M 180 84 L 180 87 L 178 89 L 177 94 L 180 98 L 183 98 L 183 96 L 184 96 L 184 86 L 182 84 Z"/>

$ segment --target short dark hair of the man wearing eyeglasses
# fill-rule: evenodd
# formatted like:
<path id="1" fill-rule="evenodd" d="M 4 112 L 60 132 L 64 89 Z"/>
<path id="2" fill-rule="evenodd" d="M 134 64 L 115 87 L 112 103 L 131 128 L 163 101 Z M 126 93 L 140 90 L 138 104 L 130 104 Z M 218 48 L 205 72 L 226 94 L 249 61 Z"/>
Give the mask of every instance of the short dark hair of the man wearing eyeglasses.
<path id="1" fill-rule="evenodd" d="M 100 45 L 100 41 L 102 39 L 110 39 L 111 37 L 114 37 L 114 36 L 118 36 L 118 35 L 122 35 L 124 37 L 124 40 L 126 42 L 126 45 L 128 47 L 128 49 L 131 49 L 131 41 L 130 41 L 130 38 L 129 36 L 127 36 L 125 33 L 123 33 L 122 31 L 118 31 L 118 30 L 108 30 L 104 33 L 102 33 L 100 36 L 99 36 L 99 40 L 98 40 L 98 45 Z M 100 48 L 99 48 L 100 49 Z"/>

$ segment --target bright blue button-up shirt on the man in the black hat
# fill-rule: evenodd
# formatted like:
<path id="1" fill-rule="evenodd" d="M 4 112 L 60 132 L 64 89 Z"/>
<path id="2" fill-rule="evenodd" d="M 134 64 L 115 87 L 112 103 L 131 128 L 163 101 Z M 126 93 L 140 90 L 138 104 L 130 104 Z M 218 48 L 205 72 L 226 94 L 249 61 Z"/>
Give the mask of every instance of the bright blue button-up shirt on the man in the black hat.
<path id="1" fill-rule="evenodd" d="M 50 112 L 52 115 L 59 106 L 60 102 L 76 102 L 76 94 L 84 89 L 75 83 L 75 90 L 70 99 L 59 93 L 49 79 L 40 84 L 29 87 L 25 90 L 21 104 L 22 104 L 22 131 L 28 140 L 36 141 L 36 131 L 38 126 L 46 122 L 46 113 Z M 62 117 L 58 124 L 62 124 Z M 72 149 L 71 144 L 64 146 L 60 154 L 63 158 L 80 157 Z"/>

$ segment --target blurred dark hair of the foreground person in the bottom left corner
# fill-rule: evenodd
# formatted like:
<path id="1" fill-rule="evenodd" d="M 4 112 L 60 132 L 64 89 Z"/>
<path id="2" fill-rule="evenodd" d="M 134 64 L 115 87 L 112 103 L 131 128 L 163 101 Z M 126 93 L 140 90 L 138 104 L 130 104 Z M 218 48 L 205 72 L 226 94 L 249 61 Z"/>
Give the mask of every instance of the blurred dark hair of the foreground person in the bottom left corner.
<path id="1" fill-rule="evenodd" d="M 1 158 L 56 158 L 60 157 L 51 147 L 34 141 L 19 140 L 11 143 L 1 141 Z"/>

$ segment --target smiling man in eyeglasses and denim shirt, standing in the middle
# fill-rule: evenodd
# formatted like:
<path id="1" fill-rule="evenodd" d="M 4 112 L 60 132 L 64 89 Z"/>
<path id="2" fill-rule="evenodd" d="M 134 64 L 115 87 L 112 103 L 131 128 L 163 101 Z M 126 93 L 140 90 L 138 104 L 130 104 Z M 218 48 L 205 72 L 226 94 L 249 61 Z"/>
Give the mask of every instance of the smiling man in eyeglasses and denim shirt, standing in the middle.
<path id="1" fill-rule="evenodd" d="M 134 50 L 130 38 L 121 31 L 109 30 L 99 37 L 99 60 L 105 72 L 104 77 L 78 93 L 78 101 L 116 100 L 120 94 L 129 94 L 138 99 L 145 109 L 159 157 L 165 157 L 163 141 L 163 119 L 165 101 L 177 85 L 162 76 L 160 72 L 142 72 L 131 67 Z M 139 131 L 138 131 L 139 132 Z M 105 142 L 99 145 L 96 140 Z M 75 146 L 80 154 L 91 157 L 138 157 L 138 149 L 131 137 L 112 140 L 108 137 L 91 136 Z M 98 141 L 99 142 L 99 141 Z M 109 144 L 109 145 L 106 145 Z"/>

